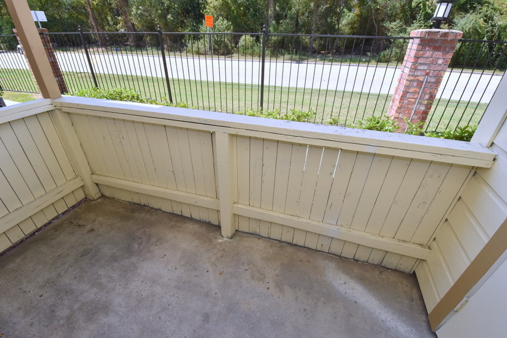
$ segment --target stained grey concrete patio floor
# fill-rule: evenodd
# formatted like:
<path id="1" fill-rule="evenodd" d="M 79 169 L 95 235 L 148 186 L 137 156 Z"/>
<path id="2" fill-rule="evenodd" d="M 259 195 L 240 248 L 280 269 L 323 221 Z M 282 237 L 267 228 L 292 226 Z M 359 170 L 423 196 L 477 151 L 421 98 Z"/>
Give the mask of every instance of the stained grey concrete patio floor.
<path id="1" fill-rule="evenodd" d="M 0 256 L 5 337 L 434 337 L 415 276 L 108 198 Z"/>

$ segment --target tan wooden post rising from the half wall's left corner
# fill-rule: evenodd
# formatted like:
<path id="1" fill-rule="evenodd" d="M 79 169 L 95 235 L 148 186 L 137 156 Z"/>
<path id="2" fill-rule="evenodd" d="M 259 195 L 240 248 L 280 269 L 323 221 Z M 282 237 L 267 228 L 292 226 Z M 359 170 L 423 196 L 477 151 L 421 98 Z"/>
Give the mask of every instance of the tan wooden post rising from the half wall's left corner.
<path id="1" fill-rule="evenodd" d="M 26 0 L 6 0 L 5 3 L 23 45 L 26 58 L 30 63 L 35 81 L 41 89 L 42 96 L 50 99 L 61 97 L 60 89 L 53 75 L 37 27 L 35 27 L 28 3 Z"/>

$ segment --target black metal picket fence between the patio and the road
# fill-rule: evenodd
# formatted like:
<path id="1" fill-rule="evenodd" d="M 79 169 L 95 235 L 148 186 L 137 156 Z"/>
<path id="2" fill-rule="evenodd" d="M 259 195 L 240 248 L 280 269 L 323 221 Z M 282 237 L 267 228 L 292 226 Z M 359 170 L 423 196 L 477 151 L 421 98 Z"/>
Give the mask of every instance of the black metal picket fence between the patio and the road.
<path id="1" fill-rule="evenodd" d="M 70 93 L 123 87 L 203 110 L 278 115 L 310 111 L 310 122 L 339 125 L 385 114 L 410 41 L 267 31 L 78 31 L 49 36 Z M 506 47 L 506 42 L 460 41 L 427 131 L 480 121 L 507 66 Z M 0 57 L 4 90 L 33 91 L 4 81 L 6 73 L 17 74 L 19 81 L 20 70 L 13 68 L 20 67 Z M 24 62 L 18 54 L 16 62 L 20 60 Z M 25 80 L 33 83 L 31 77 Z"/>

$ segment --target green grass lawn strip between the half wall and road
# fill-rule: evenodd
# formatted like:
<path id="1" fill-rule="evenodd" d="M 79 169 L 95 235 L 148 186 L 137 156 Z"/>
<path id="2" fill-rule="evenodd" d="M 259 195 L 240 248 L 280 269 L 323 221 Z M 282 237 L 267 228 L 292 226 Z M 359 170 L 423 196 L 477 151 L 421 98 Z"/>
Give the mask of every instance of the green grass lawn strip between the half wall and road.
<path id="1" fill-rule="evenodd" d="M 0 69 L 0 84 L 13 79 L 31 80 L 28 70 Z M 69 92 L 93 86 L 89 73 L 64 72 Z M 33 80 L 31 80 L 33 83 Z M 165 79 L 122 76 L 116 74 L 97 74 L 100 88 L 113 89 L 124 87 L 139 91 L 142 96 L 162 101 L 168 97 Z M 212 81 L 175 80 L 169 81 L 174 102 L 185 102 L 189 106 L 212 111 L 244 112 L 245 109 L 260 109 L 260 86 L 249 84 L 231 84 Z M 5 92 L 6 99 L 24 101 L 30 94 Z M 8 93 L 8 94 L 7 94 Z M 8 98 L 11 95 L 11 98 Z M 15 99 L 14 97 L 18 97 Z M 436 100 L 437 102 L 438 100 Z M 293 87 L 266 86 L 264 91 L 264 110 L 279 109 L 284 114 L 289 109 L 301 109 L 316 112 L 315 123 L 327 123 L 337 118 L 339 125 L 350 125 L 357 120 L 372 115 L 382 115 L 388 108 L 390 95 L 368 94 L 348 91 L 321 89 L 303 89 Z M 435 111 L 428 118 L 428 131 L 442 131 L 458 125 L 479 123 L 487 104 L 477 102 L 440 100 Z M 441 123 L 439 124 L 439 121 Z M 460 121 L 461 120 L 461 121 Z M 438 125 L 438 127 L 437 127 Z"/>

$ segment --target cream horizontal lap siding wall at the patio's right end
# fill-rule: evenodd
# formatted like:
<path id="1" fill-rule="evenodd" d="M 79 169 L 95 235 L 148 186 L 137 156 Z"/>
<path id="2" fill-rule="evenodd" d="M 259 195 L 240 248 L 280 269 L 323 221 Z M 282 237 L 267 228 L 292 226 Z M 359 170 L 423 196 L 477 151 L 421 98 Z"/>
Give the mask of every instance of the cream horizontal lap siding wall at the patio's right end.
<path id="1" fill-rule="evenodd" d="M 507 218 L 507 123 L 491 148 L 493 167 L 477 170 L 415 270 L 428 313 Z"/>

